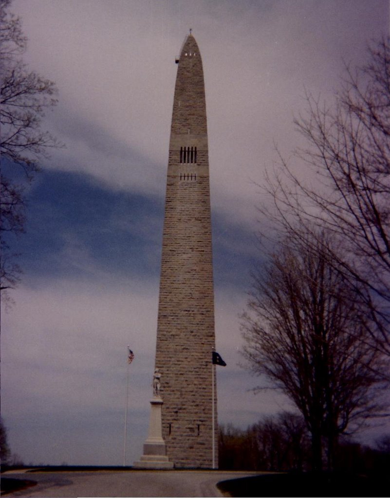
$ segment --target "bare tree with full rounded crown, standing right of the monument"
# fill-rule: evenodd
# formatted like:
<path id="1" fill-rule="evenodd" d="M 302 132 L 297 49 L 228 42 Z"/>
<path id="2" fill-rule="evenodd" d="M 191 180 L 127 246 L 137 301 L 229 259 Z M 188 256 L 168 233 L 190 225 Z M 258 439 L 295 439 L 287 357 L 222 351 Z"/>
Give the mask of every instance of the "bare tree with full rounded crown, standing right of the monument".
<path id="1" fill-rule="evenodd" d="M 243 355 L 303 415 L 313 468 L 322 469 L 325 450 L 331 469 L 339 435 L 381 413 L 385 364 L 368 340 L 359 292 L 330 263 L 336 249 L 324 234 L 308 246 L 296 233 L 253 275 Z"/>

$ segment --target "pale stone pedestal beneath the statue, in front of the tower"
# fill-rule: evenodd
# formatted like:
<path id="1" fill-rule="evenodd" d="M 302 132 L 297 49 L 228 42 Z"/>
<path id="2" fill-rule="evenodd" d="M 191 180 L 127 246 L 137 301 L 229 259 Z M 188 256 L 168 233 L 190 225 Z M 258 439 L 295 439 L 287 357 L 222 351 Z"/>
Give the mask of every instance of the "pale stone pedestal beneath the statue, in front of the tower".
<path id="1" fill-rule="evenodd" d="M 174 464 L 168 460 L 167 450 L 162 434 L 161 397 L 154 397 L 151 402 L 148 438 L 144 443 L 144 454 L 134 462 L 136 469 L 173 469 Z"/>

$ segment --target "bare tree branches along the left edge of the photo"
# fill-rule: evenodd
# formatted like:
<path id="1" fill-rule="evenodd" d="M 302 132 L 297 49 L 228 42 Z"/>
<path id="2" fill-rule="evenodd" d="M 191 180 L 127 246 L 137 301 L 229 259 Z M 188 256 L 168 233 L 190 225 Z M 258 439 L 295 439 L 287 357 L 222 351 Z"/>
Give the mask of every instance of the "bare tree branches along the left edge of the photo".
<path id="1" fill-rule="evenodd" d="M 4 233 L 23 232 L 25 203 L 23 181 L 31 181 L 38 171 L 38 162 L 46 157 L 48 147 L 58 146 L 56 139 L 42 131 L 44 110 L 54 106 L 57 90 L 50 80 L 29 71 L 21 60 L 26 37 L 19 17 L 9 12 L 11 0 L 0 0 L 0 64 L 1 64 L 1 155 L 8 164 L 22 168 L 24 178 L 17 174 L 1 174 L 1 289 L 14 287 L 20 269 L 14 262 Z M 11 169 L 12 169 L 11 168 Z M 20 175 L 19 175 L 20 176 Z"/>

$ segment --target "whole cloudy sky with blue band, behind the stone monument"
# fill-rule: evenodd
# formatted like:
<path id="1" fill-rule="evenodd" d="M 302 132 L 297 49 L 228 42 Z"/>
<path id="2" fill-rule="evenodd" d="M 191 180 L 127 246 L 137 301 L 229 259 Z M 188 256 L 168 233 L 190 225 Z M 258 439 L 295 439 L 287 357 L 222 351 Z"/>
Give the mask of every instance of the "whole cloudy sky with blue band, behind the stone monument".
<path id="1" fill-rule="evenodd" d="M 289 403 L 254 395 L 238 315 L 263 202 L 256 183 L 300 143 L 305 89 L 329 104 L 345 63 L 389 30 L 388 0 L 14 0 L 24 60 L 56 82 L 65 144 L 28 192 L 22 282 L 2 310 L 1 411 L 25 463 L 120 465 L 147 436 L 175 57 L 189 28 L 205 75 L 219 422 Z M 301 171 L 305 175 L 305 171 Z M 261 380 L 260 380 L 261 381 Z"/>

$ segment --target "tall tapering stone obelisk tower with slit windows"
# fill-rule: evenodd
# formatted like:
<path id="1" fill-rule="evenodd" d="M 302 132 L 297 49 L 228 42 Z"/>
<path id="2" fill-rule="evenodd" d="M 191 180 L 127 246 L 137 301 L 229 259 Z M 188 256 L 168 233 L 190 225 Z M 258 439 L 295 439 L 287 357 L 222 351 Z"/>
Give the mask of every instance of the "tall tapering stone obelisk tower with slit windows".
<path id="1" fill-rule="evenodd" d="M 206 105 L 202 61 L 190 34 L 172 114 L 156 346 L 163 438 L 177 468 L 212 467 L 212 375 L 218 462 L 214 344 Z"/>

